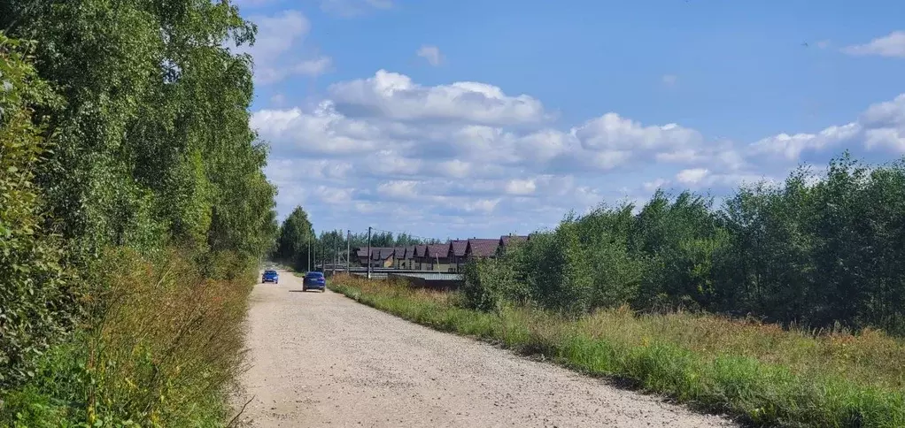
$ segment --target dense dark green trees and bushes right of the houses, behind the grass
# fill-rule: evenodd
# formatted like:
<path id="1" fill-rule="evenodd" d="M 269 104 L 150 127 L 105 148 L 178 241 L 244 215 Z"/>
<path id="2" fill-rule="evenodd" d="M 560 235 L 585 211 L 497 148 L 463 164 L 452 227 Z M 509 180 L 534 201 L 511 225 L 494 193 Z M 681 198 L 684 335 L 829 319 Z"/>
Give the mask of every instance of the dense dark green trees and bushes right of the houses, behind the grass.
<path id="1" fill-rule="evenodd" d="M 905 162 L 834 159 L 822 176 L 744 186 L 714 207 L 657 191 L 637 209 L 570 215 L 471 265 L 472 307 L 564 312 L 631 305 L 905 333 Z M 509 302 L 509 303 L 507 303 Z"/>

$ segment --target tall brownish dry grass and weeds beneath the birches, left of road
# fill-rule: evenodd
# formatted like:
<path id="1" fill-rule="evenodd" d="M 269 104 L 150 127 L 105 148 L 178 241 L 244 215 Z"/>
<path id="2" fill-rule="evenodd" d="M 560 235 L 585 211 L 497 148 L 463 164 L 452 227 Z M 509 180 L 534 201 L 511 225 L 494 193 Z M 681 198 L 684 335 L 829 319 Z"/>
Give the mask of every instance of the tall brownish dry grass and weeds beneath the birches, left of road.
<path id="1" fill-rule="evenodd" d="M 207 278 L 176 250 L 119 249 L 104 261 L 90 319 L 6 397 L 0 425 L 222 426 L 252 276 Z"/>

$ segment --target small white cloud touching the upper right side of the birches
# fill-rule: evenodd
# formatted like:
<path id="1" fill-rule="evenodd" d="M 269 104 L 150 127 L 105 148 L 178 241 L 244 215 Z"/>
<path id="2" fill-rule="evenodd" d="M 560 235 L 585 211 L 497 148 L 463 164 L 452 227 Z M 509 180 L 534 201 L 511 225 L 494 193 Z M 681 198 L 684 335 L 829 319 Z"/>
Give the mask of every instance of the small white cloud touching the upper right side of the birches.
<path id="1" fill-rule="evenodd" d="M 300 59 L 300 49 L 310 33 L 308 18 L 299 11 L 286 10 L 274 15 L 249 18 L 258 25 L 252 46 L 238 51 L 252 55 L 254 79 L 267 85 L 291 76 L 316 77 L 329 71 L 332 60 L 326 56 Z"/>

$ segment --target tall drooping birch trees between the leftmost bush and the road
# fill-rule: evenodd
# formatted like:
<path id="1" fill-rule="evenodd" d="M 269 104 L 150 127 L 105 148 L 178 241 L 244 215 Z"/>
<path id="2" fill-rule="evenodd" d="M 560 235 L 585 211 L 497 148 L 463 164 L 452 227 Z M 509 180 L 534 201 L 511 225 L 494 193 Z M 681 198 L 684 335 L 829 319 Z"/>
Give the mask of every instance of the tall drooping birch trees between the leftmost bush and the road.
<path id="1" fill-rule="evenodd" d="M 253 26 L 233 5 L 7 3 L 15 13 L 0 23 L 39 42 L 37 70 L 66 100 L 48 109 L 58 136 L 38 182 L 78 260 L 167 240 L 251 259 L 270 249 L 251 63 L 225 46 L 251 41 Z"/>

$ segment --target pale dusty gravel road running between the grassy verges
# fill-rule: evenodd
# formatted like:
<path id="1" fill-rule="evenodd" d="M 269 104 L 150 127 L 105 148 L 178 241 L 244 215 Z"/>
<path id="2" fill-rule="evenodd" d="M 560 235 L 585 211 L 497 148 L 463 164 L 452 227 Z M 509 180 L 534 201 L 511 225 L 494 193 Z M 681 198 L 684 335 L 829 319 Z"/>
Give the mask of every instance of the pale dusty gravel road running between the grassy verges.
<path id="1" fill-rule="evenodd" d="M 252 293 L 243 426 L 733 426 L 717 416 L 430 330 L 301 278 Z"/>

